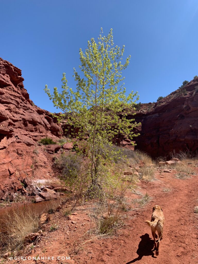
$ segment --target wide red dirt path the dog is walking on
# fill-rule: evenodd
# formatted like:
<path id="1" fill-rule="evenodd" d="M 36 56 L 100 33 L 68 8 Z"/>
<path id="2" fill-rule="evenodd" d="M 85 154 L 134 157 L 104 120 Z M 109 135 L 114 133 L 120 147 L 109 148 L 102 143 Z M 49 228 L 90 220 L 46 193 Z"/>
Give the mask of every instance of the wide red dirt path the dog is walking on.
<path id="1" fill-rule="evenodd" d="M 198 204 L 198 177 L 179 180 L 174 173 L 162 175 L 157 176 L 158 181 L 141 183 L 142 190 L 153 199 L 141 211 L 129 213 L 128 226 L 121 235 L 94 242 L 91 250 L 89 247 L 90 254 L 80 254 L 79 263 L 198 263 L 198 217 L 194 213 Z M 163 192 L 167 186 L 172 192 Z M 150 220 L 156 204 L 162 206 L 165 216 L 158 257 L 152 251 L 151 230 L 144 223 Z"/>

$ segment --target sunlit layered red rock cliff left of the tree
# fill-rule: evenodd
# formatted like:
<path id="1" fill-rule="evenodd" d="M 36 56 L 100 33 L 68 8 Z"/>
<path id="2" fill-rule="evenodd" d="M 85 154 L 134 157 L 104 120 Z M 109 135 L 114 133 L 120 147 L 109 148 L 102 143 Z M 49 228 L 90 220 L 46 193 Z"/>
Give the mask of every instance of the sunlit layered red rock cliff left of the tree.
<path id="1" fill-rule="evenodd" d="M 20 69 L 0 58 L 0 198 L 10 188 L 21 188 L 19 178 L 32 176 L 35 160 L 34 177 L 47 177 L 51 155 L 35 143 L 45 136 L 57 140 L 62 133 L 48 111 L 34 106 L 23 80 Z"/>

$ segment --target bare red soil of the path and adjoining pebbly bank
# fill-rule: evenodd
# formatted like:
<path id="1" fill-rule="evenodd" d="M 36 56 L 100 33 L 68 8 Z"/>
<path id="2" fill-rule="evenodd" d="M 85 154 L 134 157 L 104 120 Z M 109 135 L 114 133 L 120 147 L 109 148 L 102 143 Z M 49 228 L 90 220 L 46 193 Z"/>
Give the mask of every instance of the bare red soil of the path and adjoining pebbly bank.
<path id="1" fill-rule="evenodd" d="M 62 212 L 55 214 L 53 220 L 58 219 L 59 229 L 44 232 L 41 242 L 30 256 L 68 256 L 73 243 L 81 241 L 82 250 L 76 256 L 70 255 L 70 261 L 60 263 L 197 263 L 198 215 L 194 213 L 194 207 L 198 205 L 198 178 L 191 175 L 191 178 L 186 180 L 176 179 L 175 172 L 158 173 L 155 177 L 157 179 L 155 181 L 138 183 L 140 191 L 144 194 L 147 192 L 152 200 L 144 208 L 136 208 L 126 213 L 127 219 L 124 220 L 126 225 L 118 231 L 119 236 L 95 238 L 91 241 L 92 237 L 85 235 L 90 227 L 90 222 L 85 220 L 89 218 L 86 214 L 88 207 L 91 208 L 89 202 L 89 205 L 80 206 L 76 211 L 78 215 L 73 216 L 72 220 L 77 221 L 77 224 L 71 224 L 71 220 L 67 220 Z M 170 188 L 171 192 L 164 192 L 164 188 Z M 134 197 L 134 194 L 130 194 L 129 197 Z M 150 220 L 152 208 L 156 204 L 162 207 L 165 217 L 159 256 L 153 251 L 153 237 L 145 223 L 145 220 Z M 85 210 L 82 210 L 83 208 Z M 48 226 L 51 224 L 50 222 Z M 82 245 L 85 241 L 87 243 Z M 57 262 L 59 261 L 44 260 L 41 263 Z M 34 262 L 27 260 L 26 263 Z"/>

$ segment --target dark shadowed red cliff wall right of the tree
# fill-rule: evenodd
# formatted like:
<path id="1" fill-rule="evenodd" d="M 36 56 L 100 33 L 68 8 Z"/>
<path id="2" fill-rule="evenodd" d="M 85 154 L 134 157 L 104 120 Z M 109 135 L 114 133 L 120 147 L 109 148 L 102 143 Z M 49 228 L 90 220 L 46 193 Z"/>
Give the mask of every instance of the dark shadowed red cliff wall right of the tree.
<path id="1" fill-rule="evenodd" d="M 136 138 L 136 149 L 152 157 L 168 155 L 169 152 L 198 150 L 198 78 L 189 82 L 187 95 L 177 91 L 154 104 L 150 111 L 139 111 L 135 116 L 142 126 Z M 149 104 L 147 104 L 148 109 Z"/>

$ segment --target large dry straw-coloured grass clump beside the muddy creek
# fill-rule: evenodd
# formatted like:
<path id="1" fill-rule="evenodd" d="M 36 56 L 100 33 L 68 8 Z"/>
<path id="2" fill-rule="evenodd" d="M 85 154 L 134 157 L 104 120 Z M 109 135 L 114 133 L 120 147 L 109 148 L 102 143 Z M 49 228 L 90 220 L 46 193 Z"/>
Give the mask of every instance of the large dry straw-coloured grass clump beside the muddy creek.
<path id="1" fill-rule="evenodd" d="M 15 208 L 7 212 L 4 217 L 7 222 L 0 232 L 2 252 L 17 254 L 25 247 L 25 236 L 39 230 L 39 215 L 32 213 L 28 206 L 24 206 L 22 209 Z"/>

